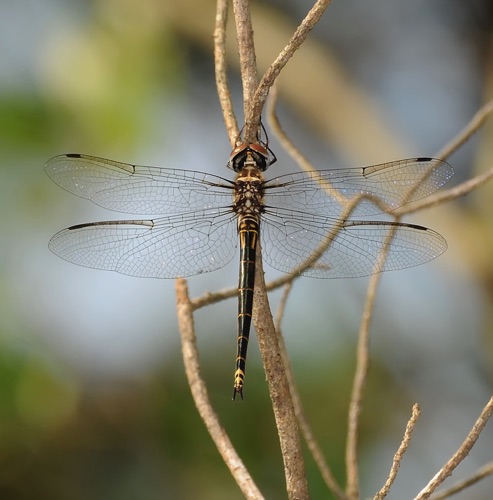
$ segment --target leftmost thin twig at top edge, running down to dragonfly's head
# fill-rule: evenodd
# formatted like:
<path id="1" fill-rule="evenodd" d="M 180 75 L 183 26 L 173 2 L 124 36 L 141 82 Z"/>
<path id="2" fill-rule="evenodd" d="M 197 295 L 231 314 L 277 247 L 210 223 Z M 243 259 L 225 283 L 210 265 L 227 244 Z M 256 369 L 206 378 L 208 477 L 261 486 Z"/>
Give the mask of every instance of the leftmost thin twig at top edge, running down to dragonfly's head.
<path id="1" fill-rule="evenodd" d="M 228 87 L 226 63 L 226 24 L 228 21 L 228 0 L 217 0 L 216 26 L 214 28 L 214 69 L 217 95 L 223 112 L 224 124 L 232 147 L 238 137 L 238 122 L 233 109 Z"/>

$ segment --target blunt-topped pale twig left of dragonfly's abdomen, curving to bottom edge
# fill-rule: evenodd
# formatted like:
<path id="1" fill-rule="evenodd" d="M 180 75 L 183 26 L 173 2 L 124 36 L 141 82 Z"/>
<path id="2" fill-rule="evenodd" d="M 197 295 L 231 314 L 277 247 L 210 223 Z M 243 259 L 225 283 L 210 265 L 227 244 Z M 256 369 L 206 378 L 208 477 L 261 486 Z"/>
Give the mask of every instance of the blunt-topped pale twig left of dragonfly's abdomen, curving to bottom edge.
<path id="1" fill-rule="evenodd" d="M 217 414 L 212 409 L 206 385 L 200 374 L 197 339 L 195 337 L 187 282 L 182 278 L 176 280 L 176 302 L 183 363 L 197 410 L 242 493 L 246 498 L 263 499 L 264 497 L 236 453 L 226 431 L 221 426 Z"/>

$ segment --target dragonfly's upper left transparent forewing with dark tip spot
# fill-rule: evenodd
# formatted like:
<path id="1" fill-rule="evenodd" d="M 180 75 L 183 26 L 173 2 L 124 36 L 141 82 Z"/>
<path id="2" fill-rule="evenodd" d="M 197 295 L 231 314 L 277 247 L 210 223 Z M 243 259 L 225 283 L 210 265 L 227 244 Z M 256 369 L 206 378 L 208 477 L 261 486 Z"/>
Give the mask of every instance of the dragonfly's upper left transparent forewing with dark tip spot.
<path id="1" fill-rule="evenodd" d="M 202 172 L 131 165 L 82 154 L 55 156 L 45 170 L 70 193 L 110 210 L 140 215 L 230 205 L 234 189 L 233 182 Z"/>

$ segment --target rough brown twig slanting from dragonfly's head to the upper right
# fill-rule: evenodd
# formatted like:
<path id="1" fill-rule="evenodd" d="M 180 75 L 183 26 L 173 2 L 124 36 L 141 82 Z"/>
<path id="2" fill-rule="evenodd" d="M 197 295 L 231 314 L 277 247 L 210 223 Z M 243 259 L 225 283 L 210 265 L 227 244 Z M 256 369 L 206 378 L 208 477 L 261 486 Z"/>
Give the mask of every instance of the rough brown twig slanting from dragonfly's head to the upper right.
<path id="1" fill-rule="evenodd" d="M 255 91 L 255 98 L 253 106 L 248 109 L 247 123 L 250 121 L 256 123 L 260 120 L 260 115 L 265 105 L 265 101 L 269 94 L 269 89 L 274 84 L 276 78 L 279 76 L 281 70 L 286 66 L 287 62 L 291 59 L 293 54 L 300 48 L 301 44 L 305 41 L 308 33 L 313 29 L 315 24 L 320 20 L 323 13 L 329 6 L 331 0 L 318 0 L 315 5 L 310 9 L 305 19 L 296 28 L 291 40 L 281 53 L 277 56 L 276 60 L 270 65 L 269 69 L 265 72 L 260 84 Z"/>

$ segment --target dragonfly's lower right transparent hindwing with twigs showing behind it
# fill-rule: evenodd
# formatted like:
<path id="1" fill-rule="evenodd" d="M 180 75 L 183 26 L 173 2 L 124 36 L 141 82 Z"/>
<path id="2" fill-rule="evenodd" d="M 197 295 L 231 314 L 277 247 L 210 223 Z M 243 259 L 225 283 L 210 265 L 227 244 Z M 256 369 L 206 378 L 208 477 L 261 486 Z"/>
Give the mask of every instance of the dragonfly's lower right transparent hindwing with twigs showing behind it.
<path id="1" fill-rule="evenodd" d="M 355 278 L 377 272 L 377 262 L 390 233 L 393 239 L 385 265 L 379 271 L 413 267 L 438 257 L 447 249 L 435 231 L 414 224 L 337 220 L 284 209 L 269 209 L 260 228 L 265 262 L 274 269 L 293 273 L 336 234 L 316 264 L 304 271 L 313 278 Z M 337 232 L 337 233 L 336 233 Z"/>

